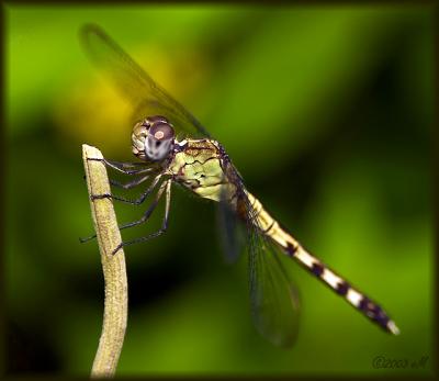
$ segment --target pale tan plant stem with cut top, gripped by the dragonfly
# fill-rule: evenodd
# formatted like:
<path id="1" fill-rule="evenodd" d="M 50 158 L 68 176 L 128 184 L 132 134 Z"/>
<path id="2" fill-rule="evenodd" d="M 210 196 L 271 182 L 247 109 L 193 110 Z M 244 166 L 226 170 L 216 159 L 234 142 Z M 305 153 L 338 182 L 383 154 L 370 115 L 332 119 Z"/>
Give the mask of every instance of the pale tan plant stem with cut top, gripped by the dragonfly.
<path id="1" fill-rule="evenodd" d="M 89 195 L 111 193 L 105 165 L 102 161 L 88 160 L 103 158 L 101 152 L 85 144 L 82 158 Z M 128 312 L 125 255 L 123 249 L 112 254 L 122 242 L 112 200 L 90 198 L 90 208 L 105 282 L 102 333 L 91 378 L 111 378 L 115 373 L 122 351 Z"/>

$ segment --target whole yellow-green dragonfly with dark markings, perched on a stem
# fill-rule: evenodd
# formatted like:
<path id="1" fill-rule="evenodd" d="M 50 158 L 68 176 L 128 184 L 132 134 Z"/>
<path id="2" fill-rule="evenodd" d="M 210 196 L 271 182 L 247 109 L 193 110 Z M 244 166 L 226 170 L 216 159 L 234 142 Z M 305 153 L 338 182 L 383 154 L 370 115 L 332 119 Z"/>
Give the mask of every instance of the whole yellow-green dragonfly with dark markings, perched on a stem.
<path id="1" fill-rule="evenodd" d="M 120 226 L 121 229 L 146 223 L 165 198 L 161 227 L 147 236 L 121 242 L 114 255 L 124 246 L 149 240 L 167 231 L 171 188 L 178 184 L 218 204 L 227 261 L 236 261 L 243 251 L 238 239 L 238 226 L 241 226 L 248 257 L 251 316 L 257 330 L 268 340 L 289 347 L 297 334 L 300 303 L 284 267 L 285 256 L 299 262 L 385 332 L 393 335 L 399 333 L 380 304 L 306 250 L 267 211 L 248 191 L 218 141 L 212 138 L 203 125 L 100 26 L 85 25 L 81 42 L 91 61 L 111 79 L 133 112 L 131 142 L 138 161 L 98 160 L 115 171 L 133 176 L 134 180 L 126 183 L 111 180 L 114 187 L 131 189 L 150 181 L 136 200 L 114 194 L 92 194 L 91 198 L 109 198 L 138 205 L 154 194 L 143 216 Z M 83 240 L 93 237 L 95 235 Z"/>

